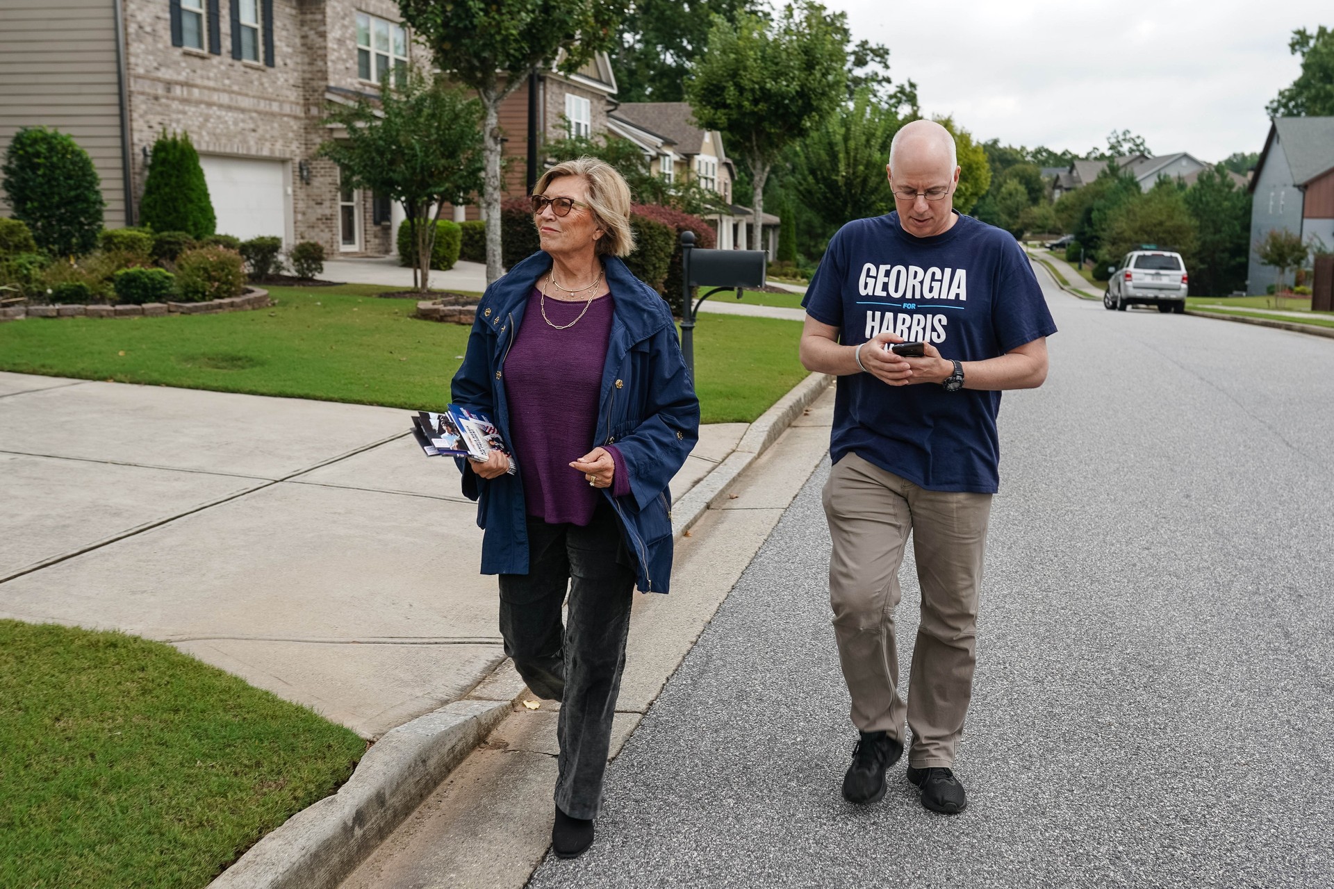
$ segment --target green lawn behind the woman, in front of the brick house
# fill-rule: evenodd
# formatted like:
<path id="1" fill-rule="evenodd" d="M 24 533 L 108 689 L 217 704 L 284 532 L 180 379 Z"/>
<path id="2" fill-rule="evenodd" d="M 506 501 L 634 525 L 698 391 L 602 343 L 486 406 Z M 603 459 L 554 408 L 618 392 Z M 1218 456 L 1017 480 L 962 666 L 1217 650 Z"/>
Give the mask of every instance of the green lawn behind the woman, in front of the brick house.
<path id="1" fill-rule="evenodd" d="M 438 408 L 468 328 L 412 319 L 414 300 L 370 296 L 386 289 L 275 287 L 277 305 L 253 312 L 12 321 L 0 325 L 0 371 Z M 750 423 L 795 385 L 799 336 L 798 321 L 700 319 L 704 423 Z"/>

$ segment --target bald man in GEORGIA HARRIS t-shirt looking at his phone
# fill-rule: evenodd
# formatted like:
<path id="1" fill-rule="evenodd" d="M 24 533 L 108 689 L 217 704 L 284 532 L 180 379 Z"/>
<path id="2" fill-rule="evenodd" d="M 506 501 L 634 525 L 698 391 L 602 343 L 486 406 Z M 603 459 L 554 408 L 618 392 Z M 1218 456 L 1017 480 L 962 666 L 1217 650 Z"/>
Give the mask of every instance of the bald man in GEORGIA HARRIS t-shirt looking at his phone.
<path id="1" fill-rule="evenodd" d="M 1014 237 L 954 211 L 948 131 L 904 125 L 886 172 L 895 211 L 839 229 L 802 301 L 802 364 L 838 375 L 824 514 L 834 630 L 859 732 L 843 796 L 884 796 L 906 717 L 907 780 L 922 805 L 952 814 L 967 805 L 952 766 L 972 696 L 1000 391 L 1042 385 L 1057 328 Z M 894 609 L 908 532 L 922 620 L 904 701 Z"/>

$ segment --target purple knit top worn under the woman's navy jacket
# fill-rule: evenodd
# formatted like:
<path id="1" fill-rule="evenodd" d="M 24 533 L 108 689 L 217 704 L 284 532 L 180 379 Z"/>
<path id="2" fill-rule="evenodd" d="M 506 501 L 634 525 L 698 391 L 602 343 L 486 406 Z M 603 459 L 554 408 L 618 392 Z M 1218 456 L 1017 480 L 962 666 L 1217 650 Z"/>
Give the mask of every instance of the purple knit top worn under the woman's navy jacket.
<path id="1" fill-rule="evenodd" d="M 548 524 L 587 525 L 603 500 L 583 473 L 570 466 L 596 446 L 598 397 L 607 361 L 614 305 L 606 293 L 591 303 L 547 297 L 547 324 L 542 292 L 534 288 L 510 353 L 504 359 L 504 389 L 510 401 L 510 437 L 523 480 L 530 516 Z M 630 493 L 626 461 L 615 445 L 604 445 L 616 464 L 612 494 Z"/>

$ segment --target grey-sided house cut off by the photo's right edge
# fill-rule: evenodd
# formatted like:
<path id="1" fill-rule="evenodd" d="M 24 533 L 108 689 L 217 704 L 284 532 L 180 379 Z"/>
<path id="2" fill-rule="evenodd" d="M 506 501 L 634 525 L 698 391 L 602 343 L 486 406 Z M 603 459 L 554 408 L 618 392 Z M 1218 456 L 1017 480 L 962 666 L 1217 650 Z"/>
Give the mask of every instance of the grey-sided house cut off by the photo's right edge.
<path id="1" fill-rule="evenodd" d="M 1275 117 L 1251 173 L 1249 287 L 1263 293 L 1278 269 L 1262 265 L 1254 245 L 1274 229 L 1319 239 L 1334 248 L 1334 117 Z M 1289 279 L 1291 283 L 1291 279 Z"/>

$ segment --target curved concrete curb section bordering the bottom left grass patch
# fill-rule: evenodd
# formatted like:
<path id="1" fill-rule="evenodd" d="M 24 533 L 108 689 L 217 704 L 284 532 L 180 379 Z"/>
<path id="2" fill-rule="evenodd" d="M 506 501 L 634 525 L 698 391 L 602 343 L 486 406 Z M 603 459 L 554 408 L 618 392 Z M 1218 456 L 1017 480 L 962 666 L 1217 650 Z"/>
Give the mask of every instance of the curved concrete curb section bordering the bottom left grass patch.
<path id="1" fill-rule="evenodd" d="M 466 698 L 391 729 L 338 793 L 288 818 L 209 886 L 338 886 L 511 710 L 511 701 Z"/>

